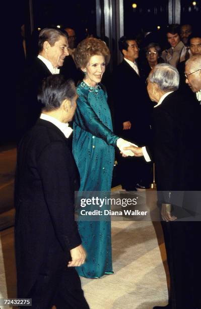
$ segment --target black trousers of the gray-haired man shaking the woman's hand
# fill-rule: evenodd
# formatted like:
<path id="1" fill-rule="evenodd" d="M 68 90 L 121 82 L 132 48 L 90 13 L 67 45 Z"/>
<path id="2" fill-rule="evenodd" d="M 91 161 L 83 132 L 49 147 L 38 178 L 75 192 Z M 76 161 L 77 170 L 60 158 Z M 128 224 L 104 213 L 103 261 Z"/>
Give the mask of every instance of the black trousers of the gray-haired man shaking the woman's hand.
<path id="1" fill-rule="evenodd" d="M 200 222 L 161 222 L 170 273 L 171 309 L 196 309 L 200 298 Z"/>

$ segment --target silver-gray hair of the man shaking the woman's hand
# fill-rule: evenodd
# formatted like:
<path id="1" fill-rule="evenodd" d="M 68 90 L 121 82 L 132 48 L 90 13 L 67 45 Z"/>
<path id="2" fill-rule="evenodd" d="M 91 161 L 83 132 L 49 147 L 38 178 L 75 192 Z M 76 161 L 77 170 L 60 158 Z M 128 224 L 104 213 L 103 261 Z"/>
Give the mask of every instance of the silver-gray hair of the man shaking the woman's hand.
<path id="1" fill-rule="evenodd" d="M 160 63 L 151 71 L 149 80 L 165 92 L 175 91 L 179 87 L 179 72 L 167 63 Z"/>

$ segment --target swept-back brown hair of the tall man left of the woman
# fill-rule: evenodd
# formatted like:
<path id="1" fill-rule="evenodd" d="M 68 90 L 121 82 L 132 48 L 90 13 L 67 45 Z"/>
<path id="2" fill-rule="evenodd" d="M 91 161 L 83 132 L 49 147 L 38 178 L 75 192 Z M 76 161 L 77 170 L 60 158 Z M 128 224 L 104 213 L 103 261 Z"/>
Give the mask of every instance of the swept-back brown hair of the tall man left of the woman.
<path id="1" fill-rule="evenodd" d="M 43 50 L 43 44 L 45 41 L 48 41 L 51 46 L 55 44 L 56 41 L 59 40 L 60 36 L 64 36 L 68 38 L 66 32 L 61 31 L 59 29 L 53 28 L 44 28 L 40 31 L 39 38 L 38 38 L 38 50 L 39 53 Z"/>

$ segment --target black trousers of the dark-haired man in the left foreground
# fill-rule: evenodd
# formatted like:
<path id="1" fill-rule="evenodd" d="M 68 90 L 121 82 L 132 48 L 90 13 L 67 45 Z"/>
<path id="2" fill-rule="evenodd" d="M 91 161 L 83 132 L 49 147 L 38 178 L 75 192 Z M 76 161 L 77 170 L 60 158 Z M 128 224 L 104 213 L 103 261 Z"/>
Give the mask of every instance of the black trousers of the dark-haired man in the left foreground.
<path id="1" fill-rule="evenodd" d="M 89 309 L 74 267 L 66 266 L 64 270 L 51 274 L 44 270 L 39 274 L 28 298 L 32 298 L 32 309 L 51 309 L 53 305 L 56 309 Z"/>

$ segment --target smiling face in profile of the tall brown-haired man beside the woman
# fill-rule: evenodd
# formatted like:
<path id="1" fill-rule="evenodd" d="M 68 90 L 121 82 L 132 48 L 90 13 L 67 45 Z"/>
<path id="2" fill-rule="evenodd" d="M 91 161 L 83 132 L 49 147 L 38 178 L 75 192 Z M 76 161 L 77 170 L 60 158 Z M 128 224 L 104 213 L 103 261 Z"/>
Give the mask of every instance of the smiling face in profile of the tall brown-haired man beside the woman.
<path id="1" fill-rule="evenodd" d="M 65 56 L 69 56 L 68 47 L 68 40 L 64 36 L 59 36 L 54 45 L 49 47 L 47 57 L 54 68 L 63 65 Z"/>

